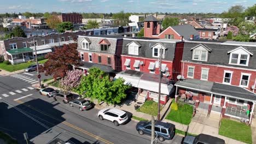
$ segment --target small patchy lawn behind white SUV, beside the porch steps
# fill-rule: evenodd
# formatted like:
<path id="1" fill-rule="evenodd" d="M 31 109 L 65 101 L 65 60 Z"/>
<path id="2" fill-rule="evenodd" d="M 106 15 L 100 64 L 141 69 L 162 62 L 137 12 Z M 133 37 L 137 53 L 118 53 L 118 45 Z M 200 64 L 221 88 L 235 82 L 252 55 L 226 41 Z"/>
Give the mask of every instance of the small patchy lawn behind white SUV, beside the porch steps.
<path id="1" fill-rule="evenodd" d="M 160 107 L 162 110 L 162 105 Z M 149 115 L 157 116 L 158 115 L 158 103 L 153 100 L 147 100 L 137 111 L 148 113 Z"/>

